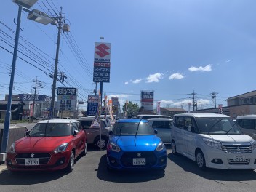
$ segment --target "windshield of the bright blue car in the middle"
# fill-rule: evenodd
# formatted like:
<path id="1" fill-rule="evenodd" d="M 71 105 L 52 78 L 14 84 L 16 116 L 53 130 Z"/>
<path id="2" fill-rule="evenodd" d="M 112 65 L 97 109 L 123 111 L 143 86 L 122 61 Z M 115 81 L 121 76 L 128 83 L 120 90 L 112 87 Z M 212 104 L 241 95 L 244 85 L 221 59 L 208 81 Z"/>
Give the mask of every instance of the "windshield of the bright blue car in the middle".
<path id="1" fill-rule="evenodd" d="M 155 135 L 148 122 L 116 122 L 113 126 L 113 135 Z"/>

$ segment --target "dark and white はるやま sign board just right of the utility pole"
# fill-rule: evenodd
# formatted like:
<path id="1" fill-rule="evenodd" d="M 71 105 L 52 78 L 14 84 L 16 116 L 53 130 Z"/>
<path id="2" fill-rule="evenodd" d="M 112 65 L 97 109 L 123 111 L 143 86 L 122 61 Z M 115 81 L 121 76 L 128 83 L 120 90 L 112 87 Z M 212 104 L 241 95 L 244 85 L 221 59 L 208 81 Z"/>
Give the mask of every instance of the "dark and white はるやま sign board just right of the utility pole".
<path id="1" fill-rule="evenodd" d="M 77 89 L 69 87 L 57 88 L 57 105 L 60 110 L 75 111 L 77 100 Z"/>

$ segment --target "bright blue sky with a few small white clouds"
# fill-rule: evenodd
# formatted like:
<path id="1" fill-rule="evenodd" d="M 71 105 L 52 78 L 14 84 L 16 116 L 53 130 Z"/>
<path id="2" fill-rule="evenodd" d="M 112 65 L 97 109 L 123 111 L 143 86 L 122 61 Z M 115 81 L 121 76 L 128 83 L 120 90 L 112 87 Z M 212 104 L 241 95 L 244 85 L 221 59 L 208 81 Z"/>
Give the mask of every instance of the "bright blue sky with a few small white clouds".
<path id="1" fill-rule="evenodd" d="M 255 90 L 256 1 L 254 0 L 39 0 L 31 9 L 57 17 L 62 7 L 71 32 L 61 33 L 57 87 L 76 87 L 87 101 L 95 42 L 111 43 L 108 98 L 140 106 L 140 92 L 153 91 L 161 107 L 227 105 L 228 97 Z M 0 99 L 9 92 L 17 4 L 0 7 Z M 57 27 L 28 20 L 23 11 L 13 94 L 52 95 Z M 14 23 L 15 22 L 15 23 Z M 104 37 L 101 40 L 100 37 Z M 99 89 L 99 84 L 97 89 Z M 79 108 L 86 109 L 87 105 Z"/>

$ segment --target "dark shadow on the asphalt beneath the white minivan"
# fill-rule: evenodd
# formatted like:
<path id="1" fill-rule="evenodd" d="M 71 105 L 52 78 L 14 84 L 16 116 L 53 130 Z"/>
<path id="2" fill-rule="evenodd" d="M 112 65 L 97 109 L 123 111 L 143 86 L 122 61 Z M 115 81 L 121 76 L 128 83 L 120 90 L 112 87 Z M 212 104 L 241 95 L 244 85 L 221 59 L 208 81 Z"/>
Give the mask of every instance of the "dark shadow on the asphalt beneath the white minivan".
<path id="1" fill-rule="evenodd" d="M 207 180 L 219 180 L 219 181 L 247 181 L 256 180 L 256 172 L 246 169 L 209 169 L 205 171 L 200 170 L 196 166 L 196 162 L 186 158 L 180 154 L 173 155 L 168 154 L 168 159 L 184 169 L 185 172 L 192 172 L 200 177 L 204 177 Z"/>

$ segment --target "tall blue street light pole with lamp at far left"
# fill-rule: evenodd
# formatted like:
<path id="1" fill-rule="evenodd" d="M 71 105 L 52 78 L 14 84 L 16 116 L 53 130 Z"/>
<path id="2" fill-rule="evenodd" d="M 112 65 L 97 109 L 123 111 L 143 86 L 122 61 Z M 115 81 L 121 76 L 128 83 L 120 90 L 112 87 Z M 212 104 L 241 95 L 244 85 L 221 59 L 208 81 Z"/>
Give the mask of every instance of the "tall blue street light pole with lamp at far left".
<path id="1" fill-rule="evenodd" d="M 18 6 L 18 14 L 17 14 L 17 26 L 16 26 L 16 33 L 15 33 L 15 47 L 13 50 L 13 57 L 12 57 L 12 73 L 11 78 L 9 82 L 9 97 L 8 97 L 8 103 L 7 103 L 7 113 L 4 119 L 4 131 L 3 131 L 3 137 L 1 141 L 1 154 L 0 154 L 0 161 L 5 160 L 5 153 L 7 152 L 7 143 L 8 143 L 8 137 L 9 137 L 9 124 L 11 121 L 11 114 L 12 114 L 12 89 L 13 89 L 13 82 L 15 78 L 15 65 L 17 60 L 17 47 L 19 44 L 19 37 L 20 37 L 20 20 L 21 20 L 21 11 L 24 9 L 27 11 L 30 9 L 33 4 L 36 3 L 37 0 L 12 0 L 15 2 Z M 27 9 L 25 9 L 25 8 Z"/>

